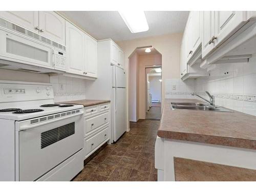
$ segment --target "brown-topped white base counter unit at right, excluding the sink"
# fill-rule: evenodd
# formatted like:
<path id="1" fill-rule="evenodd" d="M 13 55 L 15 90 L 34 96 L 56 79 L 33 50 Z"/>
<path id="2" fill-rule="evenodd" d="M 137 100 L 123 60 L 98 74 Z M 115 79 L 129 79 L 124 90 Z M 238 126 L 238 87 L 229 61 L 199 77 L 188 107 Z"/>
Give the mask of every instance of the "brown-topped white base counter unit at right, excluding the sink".
<path id="1" fill-rule="evenodd" d="M 240 173 L 245 173 L 245 175 L 256 173 L 254 172 L 256 169 L 254 161 L 256 158 L 255 116 L 232 110 L 231 112 L 173 110 L 171 102 L 204 103 L 197 99 L 165 99 L 155 147 L 155 167 L 158 169 L 159 181 L 178 180 L 176 174 L 189 175 L 190 169 L 193 169 L 194 173 L 199 170 L 204 172 L 197 174 L 201 174 L 201 180 L 225 180 L 220 176 L 232 175 L 233 167 L 239 167 Z M 178 159 L 177 163 L 177 158 L 186 161 Z M 183 172 L 178 172 L 176 170 L 180 162 L 186 162 L 186 164 L 190 162 L 195 166 L 191 165 Z M 210 166 L 206 165 L 206 162 L 223 166 L 222 169 L 227 171 L 219 174 L 206 173 L 206 169 L 197 167 L 198 164 Z M 216 177 L 205 178 L 212 174 Z M 193 180 L 186 177 L 179 178 Z M 227 178 L 246 180 L 247 177 Z M 254 179 L 254 177 L 249 178 Z"/>

